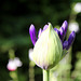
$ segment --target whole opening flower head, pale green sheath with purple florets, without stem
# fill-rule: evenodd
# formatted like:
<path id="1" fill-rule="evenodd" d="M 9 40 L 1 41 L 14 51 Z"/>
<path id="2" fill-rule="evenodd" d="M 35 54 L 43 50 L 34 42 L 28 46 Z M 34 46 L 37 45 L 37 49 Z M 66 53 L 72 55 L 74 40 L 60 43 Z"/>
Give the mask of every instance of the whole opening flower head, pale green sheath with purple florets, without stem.
<path id="1" fill-rule="evenodd" d="M 37 39 L 35 26 L 30 25 L 30 39 L 35 45 L 30 56 L 36 65 L 46 70 L 53 68 L 66 55 L 76 37 L 75 31 L 72 31 L 68 40 L 64 41 L 67 28 L 66 21 L 59 29 L 53 28 L 49 23 L 43 29 L 39 29 Z"/>

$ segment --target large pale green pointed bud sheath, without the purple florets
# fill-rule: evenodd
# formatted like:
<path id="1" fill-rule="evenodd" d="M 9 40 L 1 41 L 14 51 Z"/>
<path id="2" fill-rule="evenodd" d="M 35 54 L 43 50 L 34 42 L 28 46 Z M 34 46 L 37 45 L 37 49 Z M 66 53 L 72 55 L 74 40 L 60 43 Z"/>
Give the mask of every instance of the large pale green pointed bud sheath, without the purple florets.
<path id="1" fill-rule="evenodd" d="M 51 69 L 62 58 L 63 45 L 58 35 L 49 23 L 35 44 L 32 59 L 42 69 Z"/>

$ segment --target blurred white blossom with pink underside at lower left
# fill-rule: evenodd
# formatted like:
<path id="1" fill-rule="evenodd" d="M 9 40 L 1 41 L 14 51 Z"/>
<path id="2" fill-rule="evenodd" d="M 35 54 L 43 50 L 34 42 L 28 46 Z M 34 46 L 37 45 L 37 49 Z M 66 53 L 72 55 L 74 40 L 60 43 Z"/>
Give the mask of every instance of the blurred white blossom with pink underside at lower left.
<path id="1" fill-rule="evenodd" d="M 9 64 L 6 66 L 6 68 L 10 70 L 10 71 L 14 71 L 17 69 L 17 67 L 21 67 L 23 64 L 22 62 L 19 60 L 18 57 L 15 57 L 14 59 L 9 59 Z"/>

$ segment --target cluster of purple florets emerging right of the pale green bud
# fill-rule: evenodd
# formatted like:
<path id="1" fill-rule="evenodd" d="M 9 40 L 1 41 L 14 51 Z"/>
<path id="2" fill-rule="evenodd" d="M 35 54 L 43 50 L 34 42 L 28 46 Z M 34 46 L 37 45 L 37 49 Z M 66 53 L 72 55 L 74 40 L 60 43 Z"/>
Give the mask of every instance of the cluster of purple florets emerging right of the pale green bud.
<path id="1" fill-rule="evenodd" d="M 64 41 L 65 39 L 65 36 L 66 36 L 66 32 L 67 32 L 67 29 L 68 29 L 68 23 L 67 21 L 65 21 L 62 25 L 62 27 L 59 28 L 59 30 L 57 28 L 54 28 L 54 30 L 57 32 L 57 35 L 59 36 L 60 38 L 60 41 L 63 43 L 63 50 L 66 49 L 68 50 L 71 44 L 73 43 L 73 40 L 75 40 L 75 37 L 76 37 L 76 33 L 75 31 L 72 31 L 70 35 L 69 35 L 69 38 L 68 40 Z"/>

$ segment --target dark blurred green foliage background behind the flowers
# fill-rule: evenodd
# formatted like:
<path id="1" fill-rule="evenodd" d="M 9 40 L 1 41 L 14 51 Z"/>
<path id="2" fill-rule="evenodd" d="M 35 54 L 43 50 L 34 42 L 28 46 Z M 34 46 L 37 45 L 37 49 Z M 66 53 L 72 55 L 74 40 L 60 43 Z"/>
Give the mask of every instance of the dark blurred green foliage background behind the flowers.
<path id="1" fill-rule="evenodd" d="M 71 13 L 72 2 L 81 0 L 2 0 L 0 2 L 0 80 L 11 80 L 6 64 L 9 60 L 9 50 L 15 51 L 15 56 L 23 62 L 23 67 L 18 68 L 19 81 L 28 81 L 29 58 L 28 50 L 32 48 L 29 37 L 29 26 L 33 24 L 36 29 L 51 22 L 53 26 L 62 25 Z M 81 13 L 77 19 L 81 29 Z M 38 33 L 38 32 L 37 32 Z M 81 51 L 81 32 L 77 33 L 72 49 L 72 70 L 77 60 L 76 53 Z M 72 71 L 71 70 L 71 71 Z M 81 70 L 81 69 L 80 69 Z M 42 71 L 35 67 L 36 81 L 42 80 Z M 81 79 L 80 79 L 81 80 Z M 77 80 L 79 81 L 79 80 Z"/>

